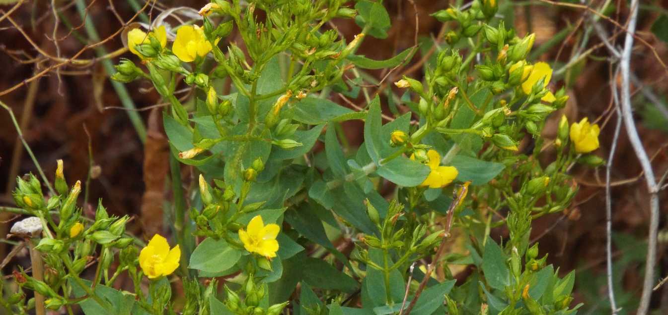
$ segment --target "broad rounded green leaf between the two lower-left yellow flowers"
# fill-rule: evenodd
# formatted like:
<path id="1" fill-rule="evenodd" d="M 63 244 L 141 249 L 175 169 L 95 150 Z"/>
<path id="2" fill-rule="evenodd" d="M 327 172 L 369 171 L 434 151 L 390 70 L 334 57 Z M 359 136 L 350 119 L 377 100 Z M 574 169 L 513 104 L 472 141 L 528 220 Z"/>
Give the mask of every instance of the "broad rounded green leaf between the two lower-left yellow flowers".
<path id="1" fill-rule="evenodd" d="M 225 240 L 206 238 L 192 252 L 188 268 L 204 272 L 221 272 L 231 268 L 241 258 L 241 250 Z"/>

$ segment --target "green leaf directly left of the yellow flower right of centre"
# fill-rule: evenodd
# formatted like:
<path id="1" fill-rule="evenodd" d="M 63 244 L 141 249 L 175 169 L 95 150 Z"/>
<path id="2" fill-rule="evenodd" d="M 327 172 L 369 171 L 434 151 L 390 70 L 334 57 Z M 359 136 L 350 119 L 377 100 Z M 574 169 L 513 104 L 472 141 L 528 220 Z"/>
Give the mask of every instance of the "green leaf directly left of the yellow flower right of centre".
<path id="1" fill-rule="evenodd" d="M 376 170 L 376 173 L 383 178 L 405 187 L 422 184 L 429 172 L 429 166 L 407 157 L 393 158 Z"/>

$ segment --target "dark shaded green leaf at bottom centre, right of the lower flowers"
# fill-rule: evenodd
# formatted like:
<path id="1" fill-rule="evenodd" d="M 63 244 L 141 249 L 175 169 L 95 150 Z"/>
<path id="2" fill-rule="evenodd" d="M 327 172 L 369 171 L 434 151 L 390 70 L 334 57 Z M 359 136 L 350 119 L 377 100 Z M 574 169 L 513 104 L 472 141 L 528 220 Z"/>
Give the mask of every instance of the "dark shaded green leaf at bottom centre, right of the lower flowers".
<path id="1" fill-rule="evenodd" d="M 340 272 L 331 264 L 318 258 L 308 257 L 303 259 L 301 269 L 303 279 L 315 286 L 325 290 L 341 290 L 353 292 L 357 289 L 357 281 L 347 274 Z"/>

